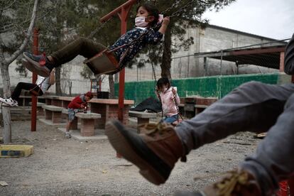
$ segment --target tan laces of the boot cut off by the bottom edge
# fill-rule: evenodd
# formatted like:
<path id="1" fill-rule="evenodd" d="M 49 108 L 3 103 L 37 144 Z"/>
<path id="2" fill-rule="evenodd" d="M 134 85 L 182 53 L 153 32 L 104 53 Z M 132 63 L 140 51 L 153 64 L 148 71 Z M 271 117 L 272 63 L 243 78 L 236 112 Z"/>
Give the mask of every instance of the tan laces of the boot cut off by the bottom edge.
<path id="1" fill-rule="evenodd" d="M 229 171 L 229 177 L 225 177 L 221 182 L 214 185 L 217 188 L 217 195 L 229 196 L 241 185 L 249 182 L 249 174 L 245 171 L 238 172 L 236 170 Z"/>

